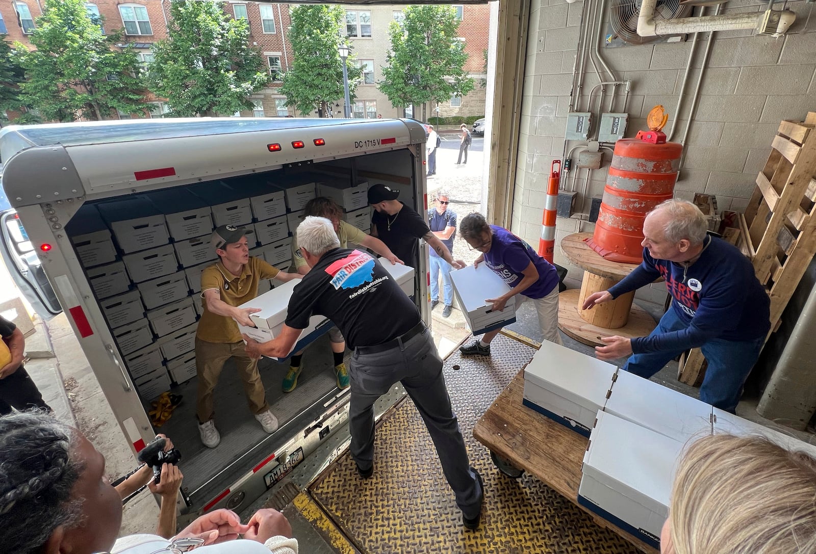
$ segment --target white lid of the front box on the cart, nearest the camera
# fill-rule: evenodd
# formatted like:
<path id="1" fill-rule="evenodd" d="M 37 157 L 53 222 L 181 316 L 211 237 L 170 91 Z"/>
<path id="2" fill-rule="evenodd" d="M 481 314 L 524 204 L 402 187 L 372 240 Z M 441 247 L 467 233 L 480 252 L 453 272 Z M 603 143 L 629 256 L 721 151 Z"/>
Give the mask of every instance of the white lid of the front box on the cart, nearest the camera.
<path id="1" fill-rule="evenodd" d="M 683 443 L 598 412 L 581 471 L 666 517 Z"/>

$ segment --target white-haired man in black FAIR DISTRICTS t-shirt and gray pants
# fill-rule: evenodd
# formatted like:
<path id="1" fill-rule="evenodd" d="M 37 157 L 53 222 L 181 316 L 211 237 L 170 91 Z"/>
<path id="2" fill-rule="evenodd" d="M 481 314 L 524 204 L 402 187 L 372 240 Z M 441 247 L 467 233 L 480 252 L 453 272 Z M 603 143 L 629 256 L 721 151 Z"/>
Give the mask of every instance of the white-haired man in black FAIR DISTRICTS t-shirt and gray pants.
<path id="1" fill-rule="evenodd" d="M 286 357 L 310 317 L 328 317 L 354 351 L 348 370 L 348 417 L 357 472 L 364 479 L 374 472 L 374 403 L 400 381 L 437 447 L 463 524 L 476 529 L 484 496 L 481 476 L 468 463 L 442 361 L 416 306 L 379 261 L 360 250 L 339 248 L 329 219 L 307 217 L 297 237 L 311 270 L 295 286 L 277 338 L 257 343 L 244 335 L 246 352 L 251 357 Z"/>

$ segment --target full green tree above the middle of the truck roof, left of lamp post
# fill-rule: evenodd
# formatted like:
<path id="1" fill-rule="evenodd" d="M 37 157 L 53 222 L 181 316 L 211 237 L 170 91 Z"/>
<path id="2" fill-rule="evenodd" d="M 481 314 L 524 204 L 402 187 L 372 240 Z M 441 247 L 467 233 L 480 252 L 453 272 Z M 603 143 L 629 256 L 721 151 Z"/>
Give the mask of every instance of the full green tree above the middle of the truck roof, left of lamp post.
<path id="1" fill-rule="evenodd" d="M 246 20 L 227 16 L 223 2 L 173 0 L 168 38 L 153 45 L 150 90 L 175 117 L 251 110 L 250 95 L 268 85 Z"/>

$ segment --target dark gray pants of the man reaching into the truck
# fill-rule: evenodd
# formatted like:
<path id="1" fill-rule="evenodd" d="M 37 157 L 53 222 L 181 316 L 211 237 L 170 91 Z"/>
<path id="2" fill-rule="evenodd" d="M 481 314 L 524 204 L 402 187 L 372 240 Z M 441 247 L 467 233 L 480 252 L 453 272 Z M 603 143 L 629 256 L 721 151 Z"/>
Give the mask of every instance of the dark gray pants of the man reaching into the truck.
<path id="1" fill-rule="evenodd" d="M 476 474 L 470 470 L 468 452 L 450 407 L 442 360 L 431 332 L 426 329 L 401 346 L 384 352 L 361 354 L 355 350 L 348 377 L 352 389 L 351 454 L 357 465 L 366 470 L 374 464 L 374 403 L 399 381 L 414 401 L 437 447 L 442 471 L 454 491 L 456 504 L 465 517 L 476 517 L 481 511 L 482 491 Z"/>

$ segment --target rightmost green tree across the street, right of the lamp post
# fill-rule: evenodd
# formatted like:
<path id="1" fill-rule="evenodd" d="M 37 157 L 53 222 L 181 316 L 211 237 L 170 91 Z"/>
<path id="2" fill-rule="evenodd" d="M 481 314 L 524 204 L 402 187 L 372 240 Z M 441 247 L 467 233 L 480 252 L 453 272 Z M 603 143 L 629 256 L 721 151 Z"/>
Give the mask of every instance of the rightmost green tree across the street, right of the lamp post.
<path id="1" fill-rule="evenodd" d="M 402 23 L 392 21 L 388 28 L 391 51 L 377 85 L 395 108 L 422 104 L 422 119 L 427 121 L 427 102 L 473 90 L 473 79 L 464 70 L 468 55 L 457 38 L 454 7 L 408 6 L 403 13 Z"/>

